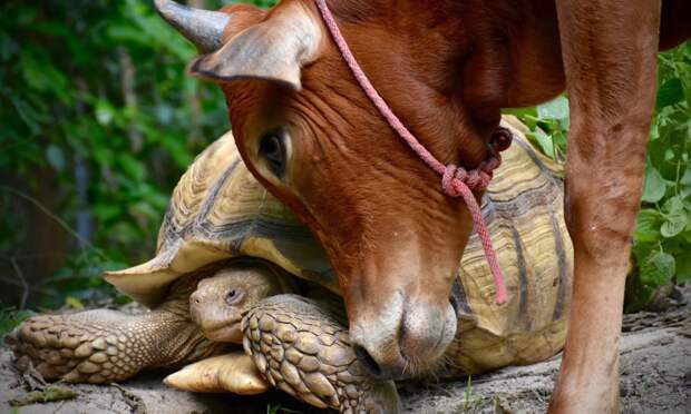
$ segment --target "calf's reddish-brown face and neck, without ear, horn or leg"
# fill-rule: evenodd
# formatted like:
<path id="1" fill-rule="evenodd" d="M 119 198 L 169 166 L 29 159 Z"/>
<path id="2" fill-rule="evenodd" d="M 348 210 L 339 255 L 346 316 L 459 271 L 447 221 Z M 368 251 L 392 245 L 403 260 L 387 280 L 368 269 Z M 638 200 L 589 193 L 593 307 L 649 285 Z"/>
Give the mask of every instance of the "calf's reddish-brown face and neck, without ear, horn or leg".
<path id="1" fill-rule="evenodd" d="M 267 14 L 235 13 L 225 37 L 294 3 L 283 1 Z M 393 16 L 382 12 L 392 7 L 370 2 L 342 2 L 333 12 L 408 129 L 442 162 L 474 168 L 488 155 L 502 107 L 543 101 L 563 88 L 556 24 L 526 22 L 515 8 L 421 3 L 397 3 Z M 303 7 L 327 33 L 314 6 Z M 508 32 L 522 34 L 531 46 L 523 49 L 535 55 L 513 55 Z M 538 55 L 541 65 L 532 65 Z M 526 73 L 541 87 L 525 81 Z M 456 332 L 449 295 L 471 230 L 468 211 L 441 193 L 440 177 L 388 127 L 328 34 L 301 81 L 299 91 L 270 81 L 221 81 L 237 147 L 324 245 L 360 355 L 381 376 L 415 374 L 437 361 Z M 260 154 L 269 130 L 286 137 L 281 176 Z"/>

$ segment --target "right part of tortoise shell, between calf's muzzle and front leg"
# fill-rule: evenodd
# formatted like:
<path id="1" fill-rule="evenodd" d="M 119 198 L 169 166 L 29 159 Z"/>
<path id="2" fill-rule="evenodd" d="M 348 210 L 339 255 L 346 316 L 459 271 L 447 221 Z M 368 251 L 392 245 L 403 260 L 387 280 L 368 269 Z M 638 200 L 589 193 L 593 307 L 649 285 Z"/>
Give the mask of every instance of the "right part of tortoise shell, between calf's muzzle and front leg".
<path id="1" fill-rule="evenodd" d="M 439 376 L 543 361 L 566 341 L 573 246 L 564 221 L 563 169 L 533 148 L 516 118 L 504 117 L 503 125 L 514 144 L 483 197 L 483 216 L 509 299 L 495 303 L 492 273 L 473 234 L 454 286 L 459 322 L 446 354 L 451 364 Z"/>

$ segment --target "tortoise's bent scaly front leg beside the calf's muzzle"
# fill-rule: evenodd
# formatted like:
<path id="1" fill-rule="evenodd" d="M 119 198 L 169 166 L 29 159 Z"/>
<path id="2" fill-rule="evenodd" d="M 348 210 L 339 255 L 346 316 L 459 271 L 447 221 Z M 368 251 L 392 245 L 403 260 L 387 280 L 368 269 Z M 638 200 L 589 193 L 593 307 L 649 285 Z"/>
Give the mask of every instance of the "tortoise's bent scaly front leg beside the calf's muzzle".
<path id="1" fill-rule="evenodd" d="M 243 345 L 269 382 L 320 408 L 395 413 L 391 381 L 366 375 L 348 329 L 324 306 L 298 295 L 276 295 L 242 323 Z"/>

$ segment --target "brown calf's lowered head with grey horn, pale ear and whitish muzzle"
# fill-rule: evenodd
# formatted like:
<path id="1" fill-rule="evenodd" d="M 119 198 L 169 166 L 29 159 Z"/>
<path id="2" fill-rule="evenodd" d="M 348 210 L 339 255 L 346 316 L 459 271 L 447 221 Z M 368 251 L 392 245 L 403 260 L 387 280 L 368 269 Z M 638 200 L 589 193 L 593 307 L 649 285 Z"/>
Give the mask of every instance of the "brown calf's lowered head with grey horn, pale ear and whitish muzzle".
<path id="1" fill-rule="evenodd" d="M 439 177 L 373 109 L 312 1 L 284 0 L 267 11 L 235 4 L 213 14 L 171 4 L 157 1 L 206 52 L 189 71 L 222 87 L 243 160 L 324 246 L 360 358 L 382 377 L 429 367 L 456 332 L 449 297 L 471 229 L 465 206 L 442 194 Z M 438 48 L 416 49 L 415 59 L 445 61 L 422 72 L 399 55 L 410 36 L 389 29 L 424 27 L 378 26 L 374 13 L 362 30 L 358 13 L 334 12 L 344 16 L 341 29 L 364 71 L 432 154 L 467 167 L 487 157 L 498 107 L 477 120 L 458 98 L 463 91 L 447 88 L 463 50 L 439 58 Z M 373 48 L 381 39 L 390 47 Z"/>

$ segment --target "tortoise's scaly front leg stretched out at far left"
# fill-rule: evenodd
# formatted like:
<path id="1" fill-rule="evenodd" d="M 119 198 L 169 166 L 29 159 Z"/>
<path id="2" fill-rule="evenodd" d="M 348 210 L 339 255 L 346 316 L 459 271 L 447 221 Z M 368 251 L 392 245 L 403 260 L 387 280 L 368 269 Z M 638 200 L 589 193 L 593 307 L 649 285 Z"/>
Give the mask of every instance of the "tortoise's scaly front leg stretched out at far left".
<path id="1" fill-rule="evenodd" d="M 221 352 L 198 328 L 167 308 L 146 315 L 95 309 L 39 315 L 7 339 L 46 379 L 74 383 L 124 381 L 155 366 L 175 366 Z"/>

